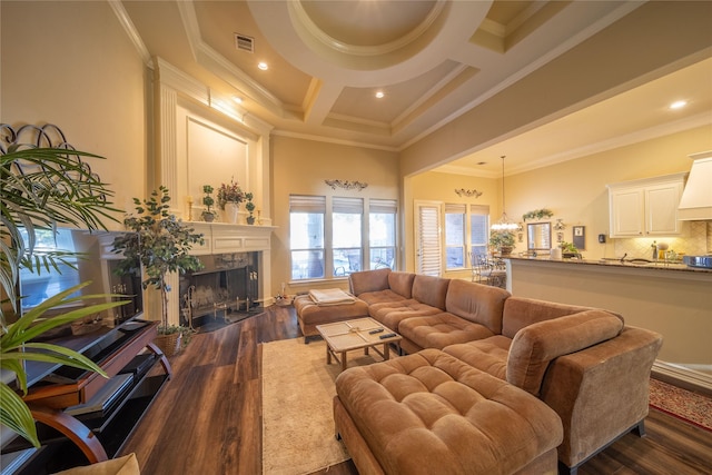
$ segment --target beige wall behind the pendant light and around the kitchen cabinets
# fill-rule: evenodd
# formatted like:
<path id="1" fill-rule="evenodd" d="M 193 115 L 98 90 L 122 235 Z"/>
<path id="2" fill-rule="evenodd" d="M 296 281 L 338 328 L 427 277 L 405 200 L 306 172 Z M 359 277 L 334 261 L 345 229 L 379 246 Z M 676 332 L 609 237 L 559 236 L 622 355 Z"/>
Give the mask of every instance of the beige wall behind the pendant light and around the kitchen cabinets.
<path id="1" fill-rule="evenodd" d="M 564 240 L 566 241 L 572 241 L 572 226 L 585 226 L 586 247 L 583 254 L 587 259 L 615 257 L 619 255 L 615 248 L 616 239 L 607 238 L 609 197 L 606 185 L 689 171 L 692 167 L 692 160 L 688 156 L 711 149 L 712 127 L 705 126 L 507 176 L 505 179 L 506 211 L 512 220 L 522 221 L 522 215 L 525 212 L 547 208 L 554 212 L 552 221 L 562 218 L 566 225 L 564 230 Z M 463 202 L 465 200 L 457 199 L 453 189 L 477 188 L 485 192 L 481 198 L 471 202 L 488 204 L 493 220 L 501 216 L 500 179 L 478 179 L 431 171 L 407 181 L 412 188 L 412 200 L 406 202 L 408 215 L 405 226 L 406 232 L 409 234 L 406 251 L 409 269 L 414 268 L 412 257 L 413 200 L 435 199 L 444 202 Z M 606 235 L 606 244 L 599 244 L 599 234 Z M 555 235 L 553 235 L 552 240 L 555 241 Z M 685 238 L 675 240 L 679 250 L 685 250 L 684 244 L 680 244 L 684 239 L 701 240 L 701 243 L 695 243 L 695 246 L 690 246 L 690 249 L 706 246 L 704 232 L 690 232 Z M 517 243 L 515 253 L 525 249 L 526 236 L 524 243 Z"/>

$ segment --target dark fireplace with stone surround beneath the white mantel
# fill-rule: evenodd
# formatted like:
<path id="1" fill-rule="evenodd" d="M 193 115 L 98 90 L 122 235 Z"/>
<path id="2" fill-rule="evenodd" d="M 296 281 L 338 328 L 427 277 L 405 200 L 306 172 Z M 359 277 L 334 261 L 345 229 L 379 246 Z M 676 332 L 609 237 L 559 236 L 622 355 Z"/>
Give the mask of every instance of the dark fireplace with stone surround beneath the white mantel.
<path id="1" fill-rule="evenodd" d="M 237 321 L 263 311 L 258 253 L 198 256 L 202 268 L 180 276 L 180 324 L 200 327 Z"/>

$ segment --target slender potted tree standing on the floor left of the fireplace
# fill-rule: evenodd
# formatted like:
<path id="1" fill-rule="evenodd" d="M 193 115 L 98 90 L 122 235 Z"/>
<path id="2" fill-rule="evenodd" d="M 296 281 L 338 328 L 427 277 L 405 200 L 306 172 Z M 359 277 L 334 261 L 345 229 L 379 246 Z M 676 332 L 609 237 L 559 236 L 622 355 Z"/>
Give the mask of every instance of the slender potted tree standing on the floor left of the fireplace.
<path id="1" fill-rule="evenodd" d="M 141 263 L 146 278 L 144 289 L 154 287 L 160 290 L 161 324 L 158 327 L 159 339 L 156 344 L 167 355 L 172 355 L 180 348 L 179 338 L 188 328 L 168 325 L 168 293 L 170 286 L 166 283 L 168 273 L 185 273 L 197 270 L 202 264 L 196 256 L 189 254 L 196 244 L 202 245 L 202 234 L 176 218 L 169 211 L 170 195 L 168 188 L 160 186 L 154 190 L 148 199 L 134 198 L 136 214 L 127 216 L 123 225 L 132 234 L 117 237 L 113 250 L 126 257 L 118 268 L 118 273 L 129 273 L 131 261 Z"/>

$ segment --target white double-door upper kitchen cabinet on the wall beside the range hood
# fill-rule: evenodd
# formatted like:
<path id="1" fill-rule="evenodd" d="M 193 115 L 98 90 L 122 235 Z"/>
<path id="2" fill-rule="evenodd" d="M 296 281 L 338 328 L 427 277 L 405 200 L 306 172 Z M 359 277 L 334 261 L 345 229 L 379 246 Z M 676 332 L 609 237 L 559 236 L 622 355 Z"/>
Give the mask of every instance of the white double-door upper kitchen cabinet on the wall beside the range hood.
<path id="1" fill-rule="evenodd" d="M 678 206 L 686 174 L 609 185 L 612 238 L 681 236 Z"/>

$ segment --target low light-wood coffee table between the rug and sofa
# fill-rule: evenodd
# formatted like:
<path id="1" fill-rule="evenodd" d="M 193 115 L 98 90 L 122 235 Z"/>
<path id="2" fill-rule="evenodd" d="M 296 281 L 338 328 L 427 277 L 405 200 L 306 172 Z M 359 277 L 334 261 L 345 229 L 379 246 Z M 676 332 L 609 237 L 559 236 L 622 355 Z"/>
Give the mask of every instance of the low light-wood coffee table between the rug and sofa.
<path id="1" fill-rule="evenodd" d="M 326 364 L 330 365 L 333 357 L 342 364 L 342 370 L 346 369 L 347 352 L 364 348 L 364 355 L 368 355 L 368 350 L 373 348 L 383 359 L 389 359 L 389 344 L 397 344 L 403 339 L 400 335 L 373 318 L 356 318 L 335 324 L 317 325 L 316 329 L 326 342 Z M 373 330 L 379 331 L 372 334 L 370 331 Z M 384 335 L 392 336 L 380 338 Z M 377 345 L 383 345 L 383 353 L 376 348 Z"/>

